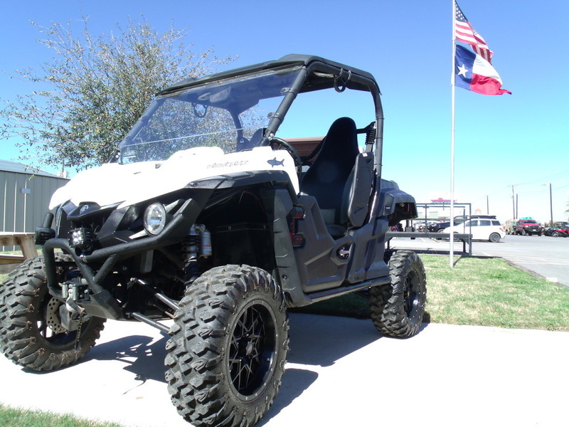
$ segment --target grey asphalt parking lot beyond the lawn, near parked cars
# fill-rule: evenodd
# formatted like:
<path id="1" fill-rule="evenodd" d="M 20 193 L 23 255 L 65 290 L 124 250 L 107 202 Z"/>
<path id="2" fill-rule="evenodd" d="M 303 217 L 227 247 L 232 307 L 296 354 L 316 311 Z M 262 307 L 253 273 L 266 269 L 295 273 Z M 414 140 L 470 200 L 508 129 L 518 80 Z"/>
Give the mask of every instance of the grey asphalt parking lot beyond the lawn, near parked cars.
<path id="1" fill-rule="evenodd" d="M 415 249 L 449 253 L 449 241 L 432 238 L 393 238 L 393 249 Z M 455 253 L 462 252 L 462 243 L 454 243 Z M 472 255 L 504 258 L 554 283 L 569 286 L 569 238 L 549 236 L 506 236 L 499 243 L 472 242 Z"/>

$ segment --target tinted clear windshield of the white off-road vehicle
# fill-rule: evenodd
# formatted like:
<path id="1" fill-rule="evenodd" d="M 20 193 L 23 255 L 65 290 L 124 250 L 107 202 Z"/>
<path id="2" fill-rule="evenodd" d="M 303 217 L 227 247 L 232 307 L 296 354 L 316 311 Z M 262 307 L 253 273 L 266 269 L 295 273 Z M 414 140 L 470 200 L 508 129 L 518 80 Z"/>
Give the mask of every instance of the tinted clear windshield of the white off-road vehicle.
<path id="1" fill-rule="evenodd" d="M 227 154 L 257 146 L 298 70 L 241 75 L 156 97 L 119 144 L 119 163 L 162 161 L 196 147 Z"/>

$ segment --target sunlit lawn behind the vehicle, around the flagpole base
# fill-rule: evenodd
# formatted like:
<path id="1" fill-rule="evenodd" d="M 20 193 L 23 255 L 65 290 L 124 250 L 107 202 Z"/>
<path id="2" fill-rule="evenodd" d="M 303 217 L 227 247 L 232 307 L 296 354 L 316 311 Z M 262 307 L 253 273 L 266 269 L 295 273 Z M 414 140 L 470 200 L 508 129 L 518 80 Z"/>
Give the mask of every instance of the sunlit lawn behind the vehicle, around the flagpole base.
<path id="1" fill-rule="evenodd" d="M 569 288 L 518 270 L 499 258 L 420 255 L 427 273 L 424 320 L 452 325 L 569 330 Z M 369 317 L 360 295 L 303 307 L 302 312 Z"/>

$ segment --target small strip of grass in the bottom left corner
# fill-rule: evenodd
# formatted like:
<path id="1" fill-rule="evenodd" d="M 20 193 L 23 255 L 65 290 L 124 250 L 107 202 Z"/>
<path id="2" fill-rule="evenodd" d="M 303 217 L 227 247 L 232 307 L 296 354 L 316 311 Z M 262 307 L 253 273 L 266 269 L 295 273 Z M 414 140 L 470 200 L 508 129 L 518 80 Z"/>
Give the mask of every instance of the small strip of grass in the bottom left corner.
<path id="1" fill-rule="evenodd" d="M 120 427 L 116 423 L 97 423 L 70 415 L 44 411 L 29 411 L 0 404 L 2 427 Z"/>

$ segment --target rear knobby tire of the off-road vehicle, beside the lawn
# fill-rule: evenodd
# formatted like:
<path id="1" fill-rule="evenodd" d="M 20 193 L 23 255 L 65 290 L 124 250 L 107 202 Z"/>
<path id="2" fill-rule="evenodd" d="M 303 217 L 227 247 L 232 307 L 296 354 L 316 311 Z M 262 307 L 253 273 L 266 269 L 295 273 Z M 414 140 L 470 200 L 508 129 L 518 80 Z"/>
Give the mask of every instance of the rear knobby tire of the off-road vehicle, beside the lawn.
<path id="1" fill-rule="evenodd" d="M 421 326 L 427 300 L 425 268 L 412 251 L 396 251 L 389 259 L 391 283 L 371 288 L 371 320 L 379 332 L 407 338 Z"/>

